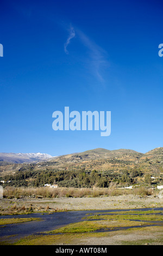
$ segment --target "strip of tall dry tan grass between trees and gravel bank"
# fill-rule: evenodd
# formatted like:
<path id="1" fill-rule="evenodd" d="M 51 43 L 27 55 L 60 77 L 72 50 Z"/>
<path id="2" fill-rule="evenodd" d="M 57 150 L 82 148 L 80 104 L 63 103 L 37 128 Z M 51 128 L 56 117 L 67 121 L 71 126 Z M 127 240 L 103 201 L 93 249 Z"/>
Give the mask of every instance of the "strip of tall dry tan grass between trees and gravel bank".
<path id="1" fill-rule="evenodd" d="M 5 187 L 5 198 L 60 198 L 60 197 L 99 197 L 99 196 L 120 196 L 122 194 L 134 194 L 140 196 L 150 196 L 154 192 L 150 188 L 139 187 L 133 190 L 117 189 L 111 184 L 109 188 L 49 188 L 49 187 Z"/>

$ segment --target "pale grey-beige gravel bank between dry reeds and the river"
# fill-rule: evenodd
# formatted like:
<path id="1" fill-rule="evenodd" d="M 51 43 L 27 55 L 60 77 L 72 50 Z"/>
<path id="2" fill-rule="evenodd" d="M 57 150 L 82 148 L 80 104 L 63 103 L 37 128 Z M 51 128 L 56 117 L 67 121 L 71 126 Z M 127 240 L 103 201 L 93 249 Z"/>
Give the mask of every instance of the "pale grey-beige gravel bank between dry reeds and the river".
<path id="1" fill-rule="evenodd" d="M 9 214 L 18 208 L 32 208 L 33 211 L 54 210 L 105 210 L 157 208 L 163 206 L 163 199 L 154 196 L 123 195 L 114 197 L 85 198 L 29 198 L 0 199 L 0 213 Z"/>

